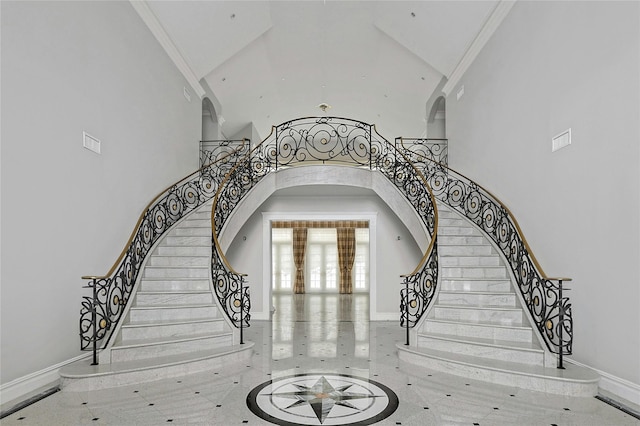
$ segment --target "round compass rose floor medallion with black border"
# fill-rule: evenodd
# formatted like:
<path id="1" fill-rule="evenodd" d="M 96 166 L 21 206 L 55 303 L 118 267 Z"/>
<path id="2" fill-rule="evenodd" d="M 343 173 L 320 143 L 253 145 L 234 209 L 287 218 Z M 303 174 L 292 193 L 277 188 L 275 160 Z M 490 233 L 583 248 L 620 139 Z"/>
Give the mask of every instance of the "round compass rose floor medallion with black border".
<path id="1" fill-rule="evenodd" d="M 270 380 L 247 395 L 258 417 L 282 426 L 371 425 L 398 408 L 381 383 L 347 374 L 297 374 Z"/>

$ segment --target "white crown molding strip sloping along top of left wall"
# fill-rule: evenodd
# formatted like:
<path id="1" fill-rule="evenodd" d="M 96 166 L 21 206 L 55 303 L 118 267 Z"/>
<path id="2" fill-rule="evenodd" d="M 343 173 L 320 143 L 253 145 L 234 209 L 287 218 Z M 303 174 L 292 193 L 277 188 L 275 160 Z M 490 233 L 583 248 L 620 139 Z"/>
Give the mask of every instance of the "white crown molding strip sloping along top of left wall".
<path id="1" fill-rule="evenodd" d="M 191 65 L 189 65 L 184 56 L 182 56 L 147 2 L 145 0 L 129 0 L 129 2 L 135 11 L 138 12 L 138 15 L 140 15 L 140 18 L 142 18 L 142 21 L 147 25 L 149 30 L 151 30 L 151 34 L 154 35 L 164 51 L 167 52 L 169 58 L 173 61 L 178 70 L 180 70 L 187 82 L 189 82 L 196 94 L 200 99 L 202 99 L 205 95 L 205 91 L 200 85 L 198 77 L 196 77 Z"/>

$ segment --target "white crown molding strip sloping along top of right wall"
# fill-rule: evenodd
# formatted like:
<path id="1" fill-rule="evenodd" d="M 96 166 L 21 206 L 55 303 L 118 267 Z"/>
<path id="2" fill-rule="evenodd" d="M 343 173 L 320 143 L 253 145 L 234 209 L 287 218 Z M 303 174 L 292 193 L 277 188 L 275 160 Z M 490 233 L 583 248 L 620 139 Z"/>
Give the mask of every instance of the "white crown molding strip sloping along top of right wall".
<path id="1" fill-rule="evenodd" d="M 467 72 L 467 69 L 469 69 L 473 61 L 475 61 L 484 45 L 487 44 L 515 3 L 516 0 L 501 0 L 495 9 L 493 9 L 493 12 L 491 12 L 491 15 L 482 26 L 482 29 L 473 42 L 471 42 L 471 45 L 469 45 L 464 56 L 462 56 L 462 59 L 458 62 L 458 65 L 456 65 L 455 69 L 449 76 L 447 84 L 442 87 L 442 91 L 447 97 L 453 91 L 453 88 L 460 82 L 464 73 Z"/>

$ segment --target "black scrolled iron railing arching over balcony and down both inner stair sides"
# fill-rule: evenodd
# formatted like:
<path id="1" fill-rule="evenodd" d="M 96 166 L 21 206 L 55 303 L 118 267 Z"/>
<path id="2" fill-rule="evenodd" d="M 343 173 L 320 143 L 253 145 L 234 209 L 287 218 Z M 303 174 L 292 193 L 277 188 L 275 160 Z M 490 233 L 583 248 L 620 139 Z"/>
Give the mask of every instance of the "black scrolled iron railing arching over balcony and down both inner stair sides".
<path id="1" fill-rule="evenodd" d="M 245 274 L 226 259 L 218 235 L 242 198 L 268 173 L 304 164 L 345 164 L 380 171 L 418 212 L 431 238 L 416 269 L 404 277 L 402 324 L 415 325 L 429 305 L 438 276 L 436 244 L 437 209 L 424 176 L 399 151 L 378 134 L 374 125 L 339 117 L 308 117 L 287 121 L 233 167 L 220 184 L 211 209 L 214 230 L 211 273 L 216 294 L 234 321 L 248 325 L 248 298 L 237 294 Z M 406 302 L 405 302 L 406 301 Z M 406 309 L 405 309 L 406 308 Z M 246 321 L 246 322 L 244 322 Z"/>

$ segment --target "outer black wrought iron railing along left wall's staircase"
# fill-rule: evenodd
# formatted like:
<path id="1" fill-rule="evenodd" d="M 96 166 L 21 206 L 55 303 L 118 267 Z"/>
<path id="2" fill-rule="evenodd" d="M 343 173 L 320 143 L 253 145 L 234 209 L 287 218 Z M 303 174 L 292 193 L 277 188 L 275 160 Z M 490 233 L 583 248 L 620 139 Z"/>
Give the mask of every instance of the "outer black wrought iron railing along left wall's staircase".
<path id="1" fill-rule="evenodd" d="M 83 297 L 80 310 L 80 347 L 95 352 L 104 346 L 129 300 L 144 258 L 156 241 L 177 221 L 210 200 L 231 170 L 234 159 L 249 150 L 249 140 L 220 144 L 215 161 L 158 194 L 144 209 L 124 250 L 105 275 L 83 276 L 92 295 Z"/>

